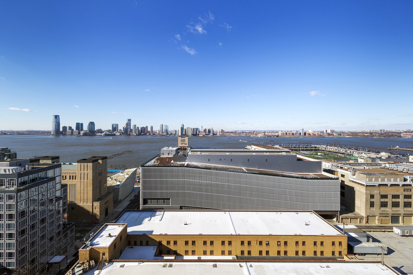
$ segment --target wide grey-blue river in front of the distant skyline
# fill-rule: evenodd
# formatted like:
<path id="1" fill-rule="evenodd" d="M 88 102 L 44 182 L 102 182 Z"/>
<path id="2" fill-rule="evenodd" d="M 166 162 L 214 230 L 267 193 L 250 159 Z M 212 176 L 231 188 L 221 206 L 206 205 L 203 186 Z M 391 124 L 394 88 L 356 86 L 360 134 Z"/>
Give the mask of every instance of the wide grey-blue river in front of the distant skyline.
<path id="1" fill-rule="evenodd" d="M 252 140 L 255 138 L 256 140 Z M 242 142 L 240 141 L 242 140 Z M 361 137 L 190 137 L 189 145 L 196 148 L 243 149 L 252 142 L 312 142 L 314 145 L 340 142 L 342 145 L 358 145 L 387 149 L 390 146 L 413 146 L 408 138 L 361 138 Z M 9 147 L 18 158 L 33 156 L 60 156 L 61 162 L 76 162 L 88 156 L 111 156 L 108 168 L 138 167 L 144 161 L 159 154 L 165 146 L 177 146 L 178 137 L 170 136 L 51 136 L 51 135 L 0 135 L 0 147 Z M 412 153 L 410 153 L 412 154 Z"/>

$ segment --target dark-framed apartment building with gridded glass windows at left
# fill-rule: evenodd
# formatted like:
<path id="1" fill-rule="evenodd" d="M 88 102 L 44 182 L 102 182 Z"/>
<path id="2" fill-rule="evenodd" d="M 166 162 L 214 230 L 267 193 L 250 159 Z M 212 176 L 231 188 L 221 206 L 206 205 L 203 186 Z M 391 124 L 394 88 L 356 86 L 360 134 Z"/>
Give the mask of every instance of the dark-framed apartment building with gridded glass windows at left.
<path id="1" fill-rule="evenodd" d="M 47 263 L 74 247 L 67 223 L 61 164 L 0 161 L 0 267 L 43 274 Z"/>

